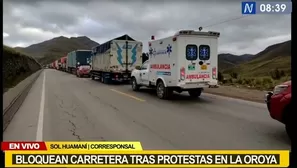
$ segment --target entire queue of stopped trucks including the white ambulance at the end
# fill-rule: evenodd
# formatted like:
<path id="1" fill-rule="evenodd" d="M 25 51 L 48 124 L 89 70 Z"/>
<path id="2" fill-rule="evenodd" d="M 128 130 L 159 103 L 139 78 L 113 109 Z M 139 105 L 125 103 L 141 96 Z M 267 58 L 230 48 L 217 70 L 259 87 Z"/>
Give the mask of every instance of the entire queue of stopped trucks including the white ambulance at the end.
<path id="1" fill-rule="evenodd" d="M 102 83 L 131 82 L 157 90 L 159 98 L 173 91 L 198 97 L 204 87 L 217 85 L 218 32 L 178 31 L 175 35 L 143 44 L 128 35 L 117 37 L 90 50 L 75 50 L 52 63 L 51 67 L 99 79 Z"/>

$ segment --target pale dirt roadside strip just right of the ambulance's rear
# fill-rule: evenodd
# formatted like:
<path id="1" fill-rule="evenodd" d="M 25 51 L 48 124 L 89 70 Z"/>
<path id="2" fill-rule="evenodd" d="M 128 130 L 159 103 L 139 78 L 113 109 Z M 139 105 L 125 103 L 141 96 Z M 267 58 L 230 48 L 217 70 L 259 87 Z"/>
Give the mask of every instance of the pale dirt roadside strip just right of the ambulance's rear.
<path id="1" fill-rule="evenodd" d="M 264 96 L 266 91 L 240 88 L 235 86 L 220 86 L 219 88 L 205 88 L 205 93 L 221 95 L 226 97 L 249 100 L 258 103 L 265 103 Z"/>

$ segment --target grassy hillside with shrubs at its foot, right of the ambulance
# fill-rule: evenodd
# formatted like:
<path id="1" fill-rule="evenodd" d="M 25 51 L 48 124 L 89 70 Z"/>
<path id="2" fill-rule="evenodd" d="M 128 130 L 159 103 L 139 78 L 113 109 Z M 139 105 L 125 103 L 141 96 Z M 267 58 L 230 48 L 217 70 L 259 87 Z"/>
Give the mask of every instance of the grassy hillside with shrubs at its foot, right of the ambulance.
<path id="1" fill-rule="evenodd" d="M 221 72 L 225 84 L 271 90 L 291 79 L 291 41 L 269 46 L 251 60 Z"/>

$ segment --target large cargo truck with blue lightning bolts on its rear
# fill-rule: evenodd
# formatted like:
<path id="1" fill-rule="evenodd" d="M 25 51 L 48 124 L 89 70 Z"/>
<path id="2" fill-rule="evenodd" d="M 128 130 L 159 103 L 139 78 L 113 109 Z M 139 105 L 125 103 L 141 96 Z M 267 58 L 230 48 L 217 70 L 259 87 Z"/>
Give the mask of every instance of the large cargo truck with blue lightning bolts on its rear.
<path id="1" fill-rule="evenodd" d="M 126 83 L 142 63 L 142 42 L 127 34 L 92 48 L 91 78 L 102 83 Z"/>

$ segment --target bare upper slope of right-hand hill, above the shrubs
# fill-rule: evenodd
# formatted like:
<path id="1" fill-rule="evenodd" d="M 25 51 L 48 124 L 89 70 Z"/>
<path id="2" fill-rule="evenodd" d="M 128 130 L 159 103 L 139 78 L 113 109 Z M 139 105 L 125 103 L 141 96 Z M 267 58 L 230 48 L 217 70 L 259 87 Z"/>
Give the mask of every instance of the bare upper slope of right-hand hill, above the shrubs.
<path id="1" fill-rule="evenodd" d="M 237 72 L 241 76 L 269 76 L 279 69 L 291 75 L 291 40 L 274 44 L 253 56 L 249 61 L 222 70 L 223 73 Z"/>

